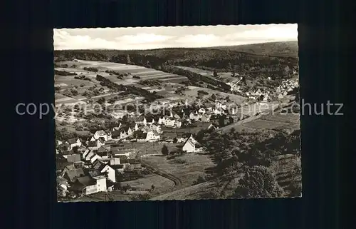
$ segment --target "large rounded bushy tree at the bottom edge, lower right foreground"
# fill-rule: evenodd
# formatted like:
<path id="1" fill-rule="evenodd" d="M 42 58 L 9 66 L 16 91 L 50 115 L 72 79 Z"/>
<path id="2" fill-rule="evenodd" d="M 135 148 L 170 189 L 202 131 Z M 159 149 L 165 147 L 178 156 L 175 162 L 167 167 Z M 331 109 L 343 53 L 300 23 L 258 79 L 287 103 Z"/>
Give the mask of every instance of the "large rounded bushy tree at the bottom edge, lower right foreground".
<path id="1" fill-rule="evenodd" d="M 253 166 L 247 168 L 244 178 L 239 182 L 234 197 L 236 198 L 276 198 L 283 196 L 284 191 L 270 168 Z"/>

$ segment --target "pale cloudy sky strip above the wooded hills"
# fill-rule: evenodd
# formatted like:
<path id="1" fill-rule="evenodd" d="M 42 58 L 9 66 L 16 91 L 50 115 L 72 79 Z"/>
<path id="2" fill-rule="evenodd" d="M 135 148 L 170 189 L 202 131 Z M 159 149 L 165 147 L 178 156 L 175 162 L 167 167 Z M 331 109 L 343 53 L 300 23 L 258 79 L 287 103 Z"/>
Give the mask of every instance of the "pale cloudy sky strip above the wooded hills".
<path id="1" fill-rule="evenodd" d="M 198 48 L 272 41 L 298 41 L 298 25 L 161 26 L 53 30 L 55 50 Z"/>

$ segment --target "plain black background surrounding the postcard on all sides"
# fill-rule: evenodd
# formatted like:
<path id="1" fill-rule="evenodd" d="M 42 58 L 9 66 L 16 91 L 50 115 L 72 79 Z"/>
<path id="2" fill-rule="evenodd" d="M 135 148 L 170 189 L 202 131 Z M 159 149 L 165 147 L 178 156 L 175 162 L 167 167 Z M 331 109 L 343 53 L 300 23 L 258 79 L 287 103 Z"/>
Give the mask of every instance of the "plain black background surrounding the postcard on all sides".
<path id="1" fill-rule="evenodd" d="M 56 203 L 53 113 L 39 120 L 12 106 L 14 228 L 342 228 L 340 165 L 353 126 L 344 101 L 350 36 L 341 31 L 353 26 L 340 23 L 336 2 L 38 0 L 14 9 L 3 23 L 16 35 L 3 52 L 14 106 L 54 102 L 53 28 L 286 23 L 299 24 L 301 98 L 345 103 L 344 116 L 301 117 L 303 198 L 115 203 Z"/>

